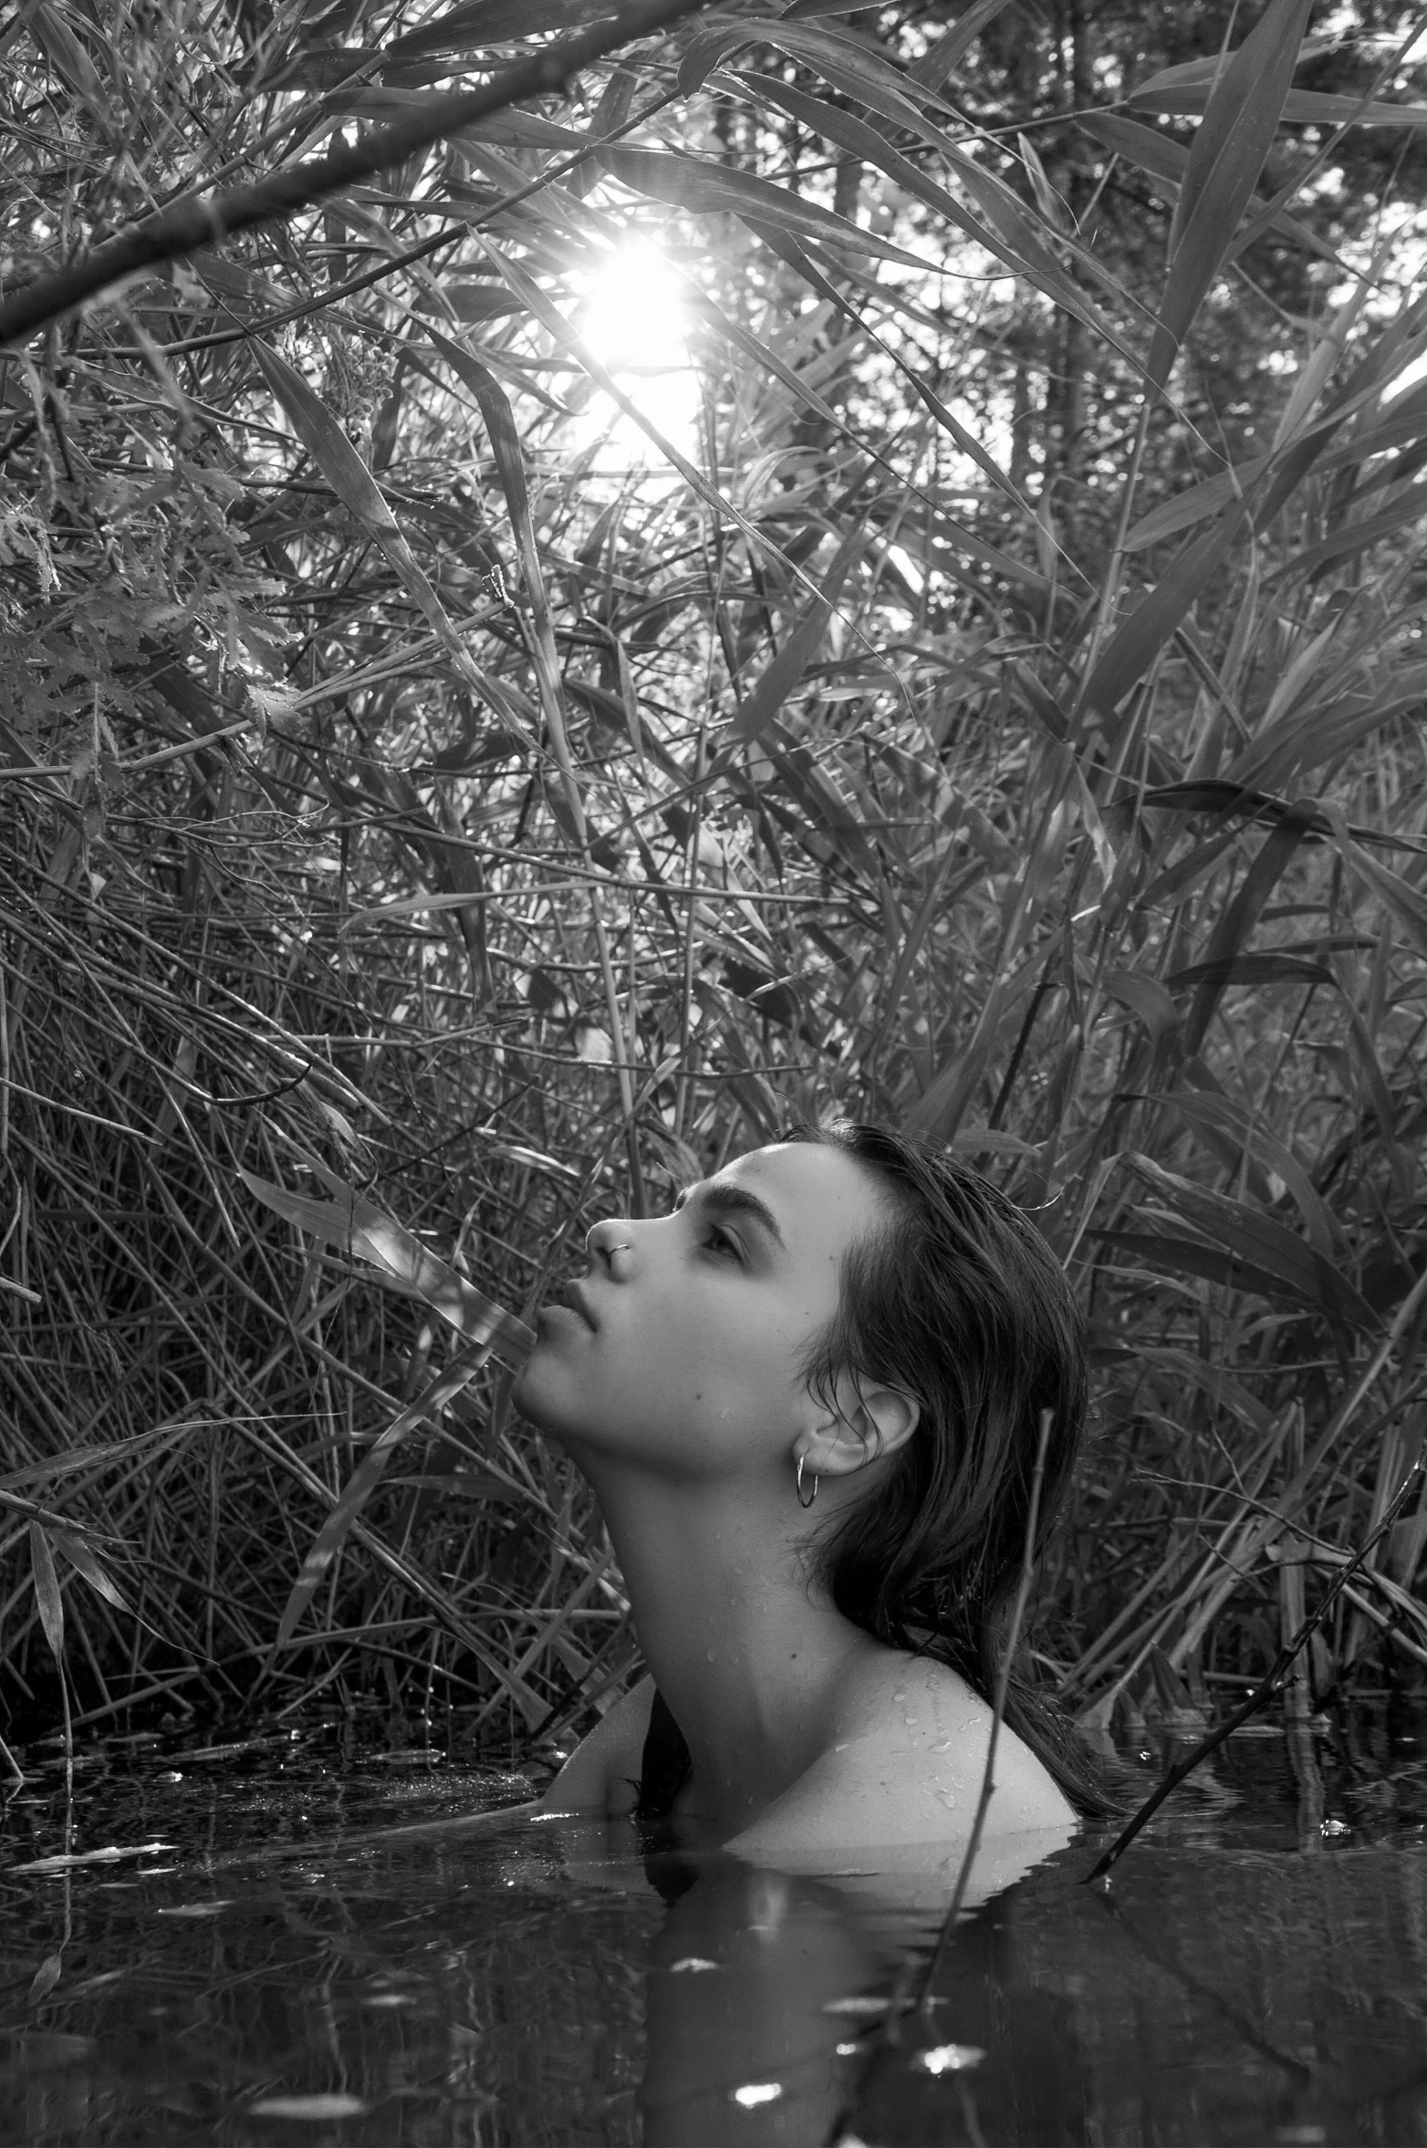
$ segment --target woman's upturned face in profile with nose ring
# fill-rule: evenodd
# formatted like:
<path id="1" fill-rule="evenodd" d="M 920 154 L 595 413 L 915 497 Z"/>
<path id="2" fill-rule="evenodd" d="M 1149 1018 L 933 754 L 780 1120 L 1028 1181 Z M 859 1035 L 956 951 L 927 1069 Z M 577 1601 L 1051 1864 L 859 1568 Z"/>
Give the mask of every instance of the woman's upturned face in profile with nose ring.
<path id="1" fill-rule="evenodd" d="M 842 1257 L 885 1220 L 847 1151 L 780 1143 L 690 1186 L 671 1216 L 595 1224 L 589 1274 L 537 1317 L 516 1405 L 580 1458 L 787 1469 L 825 1413 L 804 1351 L 836 1312 Z"/>

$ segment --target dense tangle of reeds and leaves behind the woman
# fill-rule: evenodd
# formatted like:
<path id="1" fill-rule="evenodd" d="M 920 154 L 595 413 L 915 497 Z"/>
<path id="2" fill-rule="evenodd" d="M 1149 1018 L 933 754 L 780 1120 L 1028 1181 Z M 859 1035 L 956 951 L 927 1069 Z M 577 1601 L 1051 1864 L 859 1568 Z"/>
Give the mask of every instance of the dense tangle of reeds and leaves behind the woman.
<path id="1" fill-rule="evenodd" d="M 529 1315 L 789 1115 L 976 1158 L 1094 1323 L 1036 1650 L 1098 1725 L 1251 1678 L 1384 1512 L 1427 105 L 1406 17 L 1309 15 L 705 6 L 11 344 L 11 1721 L 58 1714 L 45 1632 L 90 1721 L 548 1738 L 634 1665 L 507 1370 L 243 1171 Z M 597 19 L 32 0 L 4 292 Z M 1427 1663 L 1425 1536 L 1320 1695 Z"/>

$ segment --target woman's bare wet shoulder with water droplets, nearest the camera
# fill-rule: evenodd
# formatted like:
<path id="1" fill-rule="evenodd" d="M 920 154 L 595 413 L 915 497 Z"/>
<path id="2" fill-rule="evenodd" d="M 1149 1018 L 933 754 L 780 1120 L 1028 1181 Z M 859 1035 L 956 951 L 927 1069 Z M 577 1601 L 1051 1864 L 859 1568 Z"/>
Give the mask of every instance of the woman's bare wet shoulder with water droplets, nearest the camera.
<path id="1" fill-rule="evenodd" d="M 956 1671 L 879 1650 L 847 1684 L 836 1736 L 737 1841 L 746 1856 L 965 1843 L 986 1768 L 991 1708 Z M 1044 1764 L 1004 1723 L 984 1839 L 1047 1856 L 1079 1822 Z"/>

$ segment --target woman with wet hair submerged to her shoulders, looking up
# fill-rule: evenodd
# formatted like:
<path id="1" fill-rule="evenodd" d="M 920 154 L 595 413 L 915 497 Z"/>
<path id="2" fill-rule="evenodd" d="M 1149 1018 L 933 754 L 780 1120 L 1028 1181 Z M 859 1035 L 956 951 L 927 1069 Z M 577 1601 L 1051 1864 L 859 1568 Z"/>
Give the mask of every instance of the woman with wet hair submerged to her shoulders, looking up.
<path id="1" fill-rule="evenodd" d="M 664 1811 L 797 1871 L 965 1839 L 1040 1418 L 1038 1544 L 1085 1416 L 1049 1248 L 873 1126 L 754 1149 L 587 1246 L 516 1403 L 600 1499 L 651 1678 L 544 1809 Z M 1068 1839 L 1068 1791 L 1094 1804 L 1090 1764 L 1021 1697 L 989 1837 Z"/>

